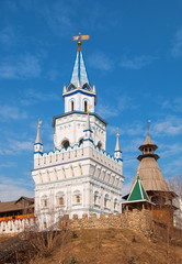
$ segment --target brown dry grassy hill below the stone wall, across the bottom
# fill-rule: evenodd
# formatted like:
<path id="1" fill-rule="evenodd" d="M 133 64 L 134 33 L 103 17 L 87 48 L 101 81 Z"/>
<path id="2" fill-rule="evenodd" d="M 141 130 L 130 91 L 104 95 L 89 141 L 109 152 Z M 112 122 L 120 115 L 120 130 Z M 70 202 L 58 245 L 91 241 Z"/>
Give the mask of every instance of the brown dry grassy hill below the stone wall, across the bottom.
<path id="1" fill-rule="evenodd" d="M 147 239 L 132 230 L 76 230 L 58 234 L 34 234 L 19 238 L 14 255 L 2 260 L 2 249 L 11 244 L 1 242 L 0 263 L 30 264 L 181 264 L 182 238 L 171 239 L 169 233 Z M 23 240 L 23 243 L 22 243 Z M 7 243 L 7 245 L 5 245 Z M 4 246 L 3 246 L 4 245 Z"/>

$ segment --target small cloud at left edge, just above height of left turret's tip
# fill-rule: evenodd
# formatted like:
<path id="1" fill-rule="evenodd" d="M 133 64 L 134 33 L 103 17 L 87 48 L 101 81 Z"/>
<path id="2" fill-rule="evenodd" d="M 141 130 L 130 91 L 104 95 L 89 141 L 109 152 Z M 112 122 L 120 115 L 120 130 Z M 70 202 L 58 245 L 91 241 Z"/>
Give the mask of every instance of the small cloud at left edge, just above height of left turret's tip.
<path id="1" fill-rule="evenodd" d="M 27 113 L 25 111 L 22 111 L 18 107 L 1 106 L 1 111 L 0 111 L 1 121 L 19 120 L 19 119 L 26 119 L 26 118 L 27 118 Z"/>

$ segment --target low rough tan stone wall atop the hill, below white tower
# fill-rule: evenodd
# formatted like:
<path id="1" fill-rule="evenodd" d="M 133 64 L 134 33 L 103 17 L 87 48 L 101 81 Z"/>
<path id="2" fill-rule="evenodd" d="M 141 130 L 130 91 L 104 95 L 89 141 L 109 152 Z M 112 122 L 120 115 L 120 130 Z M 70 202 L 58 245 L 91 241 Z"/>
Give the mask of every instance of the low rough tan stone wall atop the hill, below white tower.
<path id="1" fill-rule="evenodd" d="M 124 213 L 101 213 L 96 217 L 95 213 L 82 215 L 82 218 L 78 218 L 78 215 L 73 215 L 73 219 L 69 219 L 69 216 L 65 216 L 60 220 L 60 229 L 78 230 L 78 229 L 132 229 L 137 232 L 143 232 L 149 237 L 152 232 L 152 213 L 149 210 L 138 211 L 125 211 Z"/>

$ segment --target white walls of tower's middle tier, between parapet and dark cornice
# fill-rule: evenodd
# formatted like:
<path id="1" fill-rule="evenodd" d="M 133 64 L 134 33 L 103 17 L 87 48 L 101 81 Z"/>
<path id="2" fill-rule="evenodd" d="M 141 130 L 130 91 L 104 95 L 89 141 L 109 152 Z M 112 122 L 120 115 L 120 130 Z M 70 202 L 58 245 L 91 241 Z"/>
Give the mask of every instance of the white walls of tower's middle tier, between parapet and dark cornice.
<path id="1" fill-rule="evenodd" d="M 66 117 L 56 119 L 54 143 L 55 147 L 60 150 L 61 143 L 65 140 L 70 142 L 73 146 L 78 144 L 84 136 L 83 130 L 86 129 L 87 114 L 72 113 Z M 99 142 L 102 144 L 102 148 L 105 150 L 106 131 L 105 124 L 96 117 L 90 114 L 91 129 L 93 131 L 92 139 L 95 145 Z"/>

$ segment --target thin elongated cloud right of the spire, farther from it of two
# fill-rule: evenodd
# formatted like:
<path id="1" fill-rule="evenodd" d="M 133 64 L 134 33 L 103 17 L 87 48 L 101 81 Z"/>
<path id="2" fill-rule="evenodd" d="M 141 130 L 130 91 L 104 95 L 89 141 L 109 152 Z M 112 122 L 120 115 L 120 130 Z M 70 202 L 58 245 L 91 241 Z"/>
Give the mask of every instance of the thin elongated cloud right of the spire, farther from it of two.
<path id="1" fill-rule="evenodd" d="M 134 58 L 127 58 L 124 57 L 120 64 L 123 68 L 130 68 L 130 69 L 140 69 L 149 64 L 151 64 L 153 61 L 156 61 L 157 57 L 150 56 L 150 55 L 141 55 Z"/>

